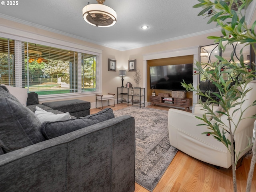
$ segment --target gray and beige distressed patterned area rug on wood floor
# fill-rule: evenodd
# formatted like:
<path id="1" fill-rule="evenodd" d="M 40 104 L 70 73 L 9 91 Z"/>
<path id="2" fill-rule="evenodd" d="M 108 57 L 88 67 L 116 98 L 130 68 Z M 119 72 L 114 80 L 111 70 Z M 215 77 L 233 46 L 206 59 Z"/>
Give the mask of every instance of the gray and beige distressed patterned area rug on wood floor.
<path id="1" fill-rule="evenodd" d="M 114 114 L 135 118 L 135 181 L 152 192 L 178 151 L 169 142 L 168 111 L 130 106 Z"/>

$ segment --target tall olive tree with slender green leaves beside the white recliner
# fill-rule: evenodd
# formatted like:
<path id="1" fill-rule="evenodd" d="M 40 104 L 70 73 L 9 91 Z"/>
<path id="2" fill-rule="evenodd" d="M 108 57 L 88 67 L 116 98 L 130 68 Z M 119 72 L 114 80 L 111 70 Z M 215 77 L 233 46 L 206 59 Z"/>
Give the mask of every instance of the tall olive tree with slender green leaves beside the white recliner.
<path id="1" fill-rule="evenodd" d="M 198 14 L 199 16 L 206 16 L 209 18 L 208 23 L 216 22 L 217 25 L 221 27 L 222 37 L 209 36 L 209 39 L 215 40 L 215 43 L 219 43 L 219 49 L 222 49 L 222 52 L 225 51 L 225 48 L 228 44 L 233 44 L 236 42 L 240 42 L 244 44 L 244 46 L 251 44 L 252 49 L 255 51 L 254 43 L 256 43 L 256 33 L 255 26 L 256 21 L 252 24 L 251 27 L 248 27 L 245 20 L 245 11 L 248 8 L 249 4 L 252 0 L 239 0 L 242 4 L 238 6 L 238 11 L 232 10 L 231 6 L 233 4 L 238 5 L 238 0 L 215 0 L 214 2 L 210 0 L 198 0 L 200 3 L 194 5 L 194 8 L 202 7 L 203 10 Z M 244 11 L 242 9 L 244 8 Z M 241 50 L 242 53 L 242 50 Z M 237 158 L 239 156 L 234 150 L 233 138 L 235 134 L 235 130 L 232 132 L 231 123 L 234 123 L 233 114 L 230 114 L 230 109 L 236 105 L 242 105 L 244 102 L 245 94 L 250 91 L 246 90 L 245 87 L 248 83 L 256 77 L 255 72 L 255 64 L 251 63 L 250 66 L 244 64 L 244 58 L 241 54 L 239 61 L 240 66 L 238 66 L 234 62 L 234 58 L 229 62 L 221 56 L 216 55 L 218 61 L 214 63 L 208 64 L 208 67 L 202 68 L 204 63 L 196 62 L 196 74 L 204 75 L 207 80 L 213 82 L 213 84 L 218 88 L 218 93 L 210 93 L 210 92 L 202 92 L 197 86 L 196 88 L 192 86 L 192 84 L 186 84 L 186 82 L 182 83 L 182 85 L 190 91 L 196 92 L 199 96 L 207 98 L 206 102 L 202 102 L 199 99 L 198 103 L 203 106 L 203 110 L 205 110 L 205 114 L 203 117 L 197 117 L 202 120 L 202 124 L 207 125 L 209 128 L 209 132 L 205 132 L 202 134 L 211 134 L 218 141 L 222 142 L 230 151 L 232 155 L 232 174 L 233 174 L 233 188 L 234 191 L 237 191 L 236 184 L 236 164 Z M 232 69 L 232 73 L 237 73 L 240 75 L 239 81 L 235 81 L 232 83 L 231 80 L 224 80 L 224 76 L 230 75 L 229 72 L 225 71 L 225 68 Z M 214 97 L 213 97 L 214 96 Z M 216 100 L 215 98 L 218 98 Z M 240 98 L 241 102 L 236 102 L 236 100 Z M 212 105 L 218 105 L 219 110 L 214 112 Z M 256 105 L 256 101 L 252 104 Z M 229 120 L 229 124 L 224 125 L 226 130 L 229 130 L 230 140 L 226 136 L 226 132 L 219 129 L 219 125 L 222 124 L 220 116 L 226 116 Z M 208 120 L 208 116 L 212 116 L 216 122 L 212 123 Z M 256 118 L 256 116 L 251 116 L 248 118 Z M 242 120 L 238 120 L 237 124 Z M 199 125 L 200 126 L 200 125 Z M 223 125 L 222 125 L 223 126 Z M 253 156 L 251 167 L 248 175 L 246 191 L 249 192 L 251 188 L 252 175 L 254 170 L 254 164 L 256 162 L 256 142 L 254 142 L 254 146 L 252 147 L 252 141 L 248 140 L 248 146 L 244 150 L 248 150 L 248 148 L 252 147 Z M 236 158 L 235 158 L 236 157 Z"/>

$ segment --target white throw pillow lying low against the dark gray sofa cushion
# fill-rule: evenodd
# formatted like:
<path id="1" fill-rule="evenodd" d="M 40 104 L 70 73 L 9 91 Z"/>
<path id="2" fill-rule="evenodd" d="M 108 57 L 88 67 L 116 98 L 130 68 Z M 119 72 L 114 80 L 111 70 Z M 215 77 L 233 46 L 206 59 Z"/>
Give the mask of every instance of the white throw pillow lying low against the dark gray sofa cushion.
<path id="1" fill-rule="evenodd" d="M 40 107 L 36 106 L 35 115 L 40 120 L 40 122 L 54 122 L 54 121 L 65 121 L 71 119 L 69 112 L 61 114 L 53 114 L 52 112 L 45 111 Z"/>

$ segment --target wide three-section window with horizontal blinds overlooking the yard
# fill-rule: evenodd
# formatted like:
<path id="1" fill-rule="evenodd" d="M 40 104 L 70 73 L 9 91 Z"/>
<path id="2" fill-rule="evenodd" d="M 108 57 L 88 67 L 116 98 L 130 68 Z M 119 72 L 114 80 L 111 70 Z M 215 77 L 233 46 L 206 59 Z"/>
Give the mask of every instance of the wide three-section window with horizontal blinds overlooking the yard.
<path id="1" fill-rule="evenodd" d="M 91 53 L 0 38 L 1 83 L 38 95 L 99 91 L 98 60 Z"/>

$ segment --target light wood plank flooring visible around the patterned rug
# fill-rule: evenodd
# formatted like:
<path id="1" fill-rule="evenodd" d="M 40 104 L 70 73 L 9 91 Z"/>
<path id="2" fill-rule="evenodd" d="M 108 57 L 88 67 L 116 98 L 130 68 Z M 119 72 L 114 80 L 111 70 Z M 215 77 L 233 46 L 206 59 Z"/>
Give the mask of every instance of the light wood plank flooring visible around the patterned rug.
<path id="1" fill-rule="evenodd" d="M 116 104 L 115 107 L 110 108 L 118 110 L 125 107 L 127 107 L 127 104 Z M 166 106 L 148 107 L 162 110 L 169 109 Z M 100 109 L 91 109 L 91 114 L 98 111 Z M 245 156 L 241 166 L 236 170 L 238 192 L 246 191 L 251 158 L 252 154 Z M 148 192 L 148 190 L 136 183 L 135 192 Z M 153 192 L 233 192 L 232 170 L 217 169 L 215 166 L 178 151 Z M 256 192 L 256 168 L 254 169 L 251 192 Z"/>

